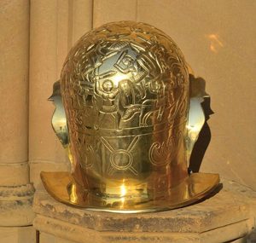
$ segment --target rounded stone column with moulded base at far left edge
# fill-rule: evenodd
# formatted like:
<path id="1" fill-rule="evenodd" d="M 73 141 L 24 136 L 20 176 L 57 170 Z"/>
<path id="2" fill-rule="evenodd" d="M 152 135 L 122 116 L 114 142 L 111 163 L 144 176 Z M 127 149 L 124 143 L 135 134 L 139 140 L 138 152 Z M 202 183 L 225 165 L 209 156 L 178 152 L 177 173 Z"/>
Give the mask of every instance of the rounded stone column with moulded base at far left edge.
<path id="1" fill-rule="evenodd" d="M 18 242 L 31 229 L 19 227 L 34 217 L 27 162 L 28 0 L 0 2 L 0 30 L 0 242 Z"/>

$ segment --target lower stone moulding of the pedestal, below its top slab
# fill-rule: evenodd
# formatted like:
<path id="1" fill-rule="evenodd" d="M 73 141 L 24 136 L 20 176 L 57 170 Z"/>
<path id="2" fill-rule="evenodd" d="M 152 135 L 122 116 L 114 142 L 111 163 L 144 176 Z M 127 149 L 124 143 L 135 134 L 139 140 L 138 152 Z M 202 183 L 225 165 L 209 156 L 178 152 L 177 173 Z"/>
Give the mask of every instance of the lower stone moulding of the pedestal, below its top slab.
<path id="1" fill-rule="evenodd" d="M 56 220 L 51 217 L 39 215 L 35 218 L 34 227 L 40 232 L 47 232 L 56 237 L 72 240 L 78 243 L 127 243 L 127 242 L 154 242 L 154 243 L 213 243 L 225 242 L 230 239 L 238 239 L 247 234 L 248 222 L 242 221 L 224 226 L 220 229 L 212 229 L 202 233 L 182 232 L 123 232 L 103 231 L 84 228 L 72 223 Z"/>

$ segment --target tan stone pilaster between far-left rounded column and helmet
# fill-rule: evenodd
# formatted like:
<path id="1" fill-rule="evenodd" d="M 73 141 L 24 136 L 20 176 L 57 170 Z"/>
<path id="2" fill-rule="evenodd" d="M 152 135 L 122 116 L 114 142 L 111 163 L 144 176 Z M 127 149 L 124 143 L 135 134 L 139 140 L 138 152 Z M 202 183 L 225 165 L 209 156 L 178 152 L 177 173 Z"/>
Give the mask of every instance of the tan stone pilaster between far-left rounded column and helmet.
<path id="1" fill-rule="evenodd" d="M 55 107 L 47 99 L 68 50 L 91 28 L 91 4 L 90 0 L 31 1 L 29 161 L 36 188 L 40 171 L 69 170 L 50 124 Z"/>

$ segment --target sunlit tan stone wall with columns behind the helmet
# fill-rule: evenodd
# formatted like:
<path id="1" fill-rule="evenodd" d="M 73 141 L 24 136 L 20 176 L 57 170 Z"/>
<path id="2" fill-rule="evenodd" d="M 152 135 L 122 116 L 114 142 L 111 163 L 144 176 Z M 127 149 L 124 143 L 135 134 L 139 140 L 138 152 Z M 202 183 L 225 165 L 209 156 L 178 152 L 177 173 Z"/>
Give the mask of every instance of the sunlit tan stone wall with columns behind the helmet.
<path id="1" fill-rule="evenodd" d="M 147 22 L 175 40 L 211 95 L 211 142 L 201 171 L 255 190 L 255 9 L 253 0 L 2 0 L 0 190 L 30 182 L 37 188 L 40 171 L 69 169 L 47 99 L 73 43 L 113 20 Z M 6 208 L 0 226 L 1 217 L 8 218 Z M 3 226 L 30 224 L 20 218 Z"/>

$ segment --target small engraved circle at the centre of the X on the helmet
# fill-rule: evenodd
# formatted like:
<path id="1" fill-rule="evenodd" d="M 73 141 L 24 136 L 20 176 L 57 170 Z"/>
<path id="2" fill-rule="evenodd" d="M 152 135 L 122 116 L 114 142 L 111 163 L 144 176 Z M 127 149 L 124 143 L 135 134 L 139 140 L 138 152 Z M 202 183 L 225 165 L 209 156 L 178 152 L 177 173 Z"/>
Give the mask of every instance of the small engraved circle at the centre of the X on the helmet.
<path id="1" fill-rule="evenodd" d="M 119 149 L 114 151 L 110 156 L 111 165 L 117 170 L 126 170 L 132 165 L 131 153 Z"/>

